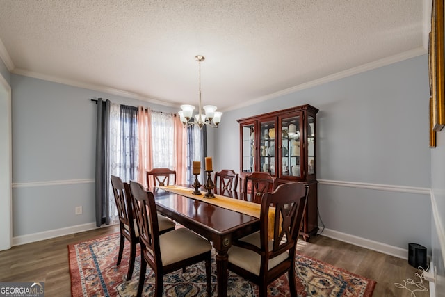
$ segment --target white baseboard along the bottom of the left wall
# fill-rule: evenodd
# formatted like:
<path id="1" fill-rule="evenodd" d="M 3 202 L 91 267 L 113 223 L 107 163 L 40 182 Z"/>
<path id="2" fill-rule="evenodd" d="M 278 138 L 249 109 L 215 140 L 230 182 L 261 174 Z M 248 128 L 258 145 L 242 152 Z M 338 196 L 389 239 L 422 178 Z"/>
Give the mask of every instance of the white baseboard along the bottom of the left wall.
<path id="1" fill-rule="evenodd" d="M 107 225 L 108 226 L 108 225 Z M 13 237 L 13 246 L 20 246 L 25 243 L 31 243 L 35 241 L 42 241 L 45 239 L 51 239 L 58 236 L 70 235 L 78 232 L 84 232 L 88 230 L 97 229 L 96 223 L 87 223 L 83 225 L 70 226 L 66 228 L 60 228 L 55 230 L 49 230 L 44 232 L 37 232 L 33 234 L 26 234 L 22 236 Z"/>

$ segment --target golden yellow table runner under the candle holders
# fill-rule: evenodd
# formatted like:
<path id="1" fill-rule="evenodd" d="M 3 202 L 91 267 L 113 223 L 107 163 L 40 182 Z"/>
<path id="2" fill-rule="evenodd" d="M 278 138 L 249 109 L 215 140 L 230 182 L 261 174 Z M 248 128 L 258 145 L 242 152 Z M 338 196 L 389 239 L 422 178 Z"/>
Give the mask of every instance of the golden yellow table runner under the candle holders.
<path id="1" fill-rule="evenodd" d="M 238 200 L 234 198 L 225 197 L 223 195 L 215 195 L 215 198 L 205 198 L 204 194 L 201 195 L 193 195 L 192 192 L 194 188 L 188 188 L 186 186 L 158 186 L 157 188 L 161 188 L 165 191 L 172 192 L 175 194 L 183 195 L 188 198 L 200 200 L 203 202 L 207 202 L 218 207 L 223 207 L 225 209 L 229 209 L 232 211 L 241 212 L 241 214 L 247 214 L 249 216 L 254 216 L 255 218 L 259 218 L 261 213 L 261 204 L 254 203 L 245 200 Z M 275 218 L 275 207 L 269 208 L 269 223 L 268 223 L 268 234 L 269 238 L 273 238 L 273 220 Z"/>

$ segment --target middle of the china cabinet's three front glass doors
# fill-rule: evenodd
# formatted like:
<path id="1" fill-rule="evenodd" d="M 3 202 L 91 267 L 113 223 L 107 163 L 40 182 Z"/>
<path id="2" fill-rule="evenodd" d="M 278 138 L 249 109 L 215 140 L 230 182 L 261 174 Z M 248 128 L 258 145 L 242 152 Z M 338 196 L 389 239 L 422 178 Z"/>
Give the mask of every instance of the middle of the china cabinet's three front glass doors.
<path id="1" fill-rule="evenodd" d="M 260 122 L 259 171 L 275 175 L 275 120 Z"/>

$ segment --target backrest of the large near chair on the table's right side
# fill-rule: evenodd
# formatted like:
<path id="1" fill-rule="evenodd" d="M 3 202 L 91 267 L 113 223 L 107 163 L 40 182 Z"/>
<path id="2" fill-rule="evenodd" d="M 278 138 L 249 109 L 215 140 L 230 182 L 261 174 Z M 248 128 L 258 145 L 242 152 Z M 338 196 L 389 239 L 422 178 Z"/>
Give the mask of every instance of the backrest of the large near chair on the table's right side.
<path id="1" fill-rule="evenodd" d="M 301 182 L 281 184 L 273 193 L 265 193 L 261 200 L 260 241 L 264 260 L 289 250 L 295 257 L 296 243 L 307 202 L 309 186 Z M 275 207 L 273 245 L 270 246 L 269 209 Z M 292 259 L 292 258 L 291 258 Z"/>

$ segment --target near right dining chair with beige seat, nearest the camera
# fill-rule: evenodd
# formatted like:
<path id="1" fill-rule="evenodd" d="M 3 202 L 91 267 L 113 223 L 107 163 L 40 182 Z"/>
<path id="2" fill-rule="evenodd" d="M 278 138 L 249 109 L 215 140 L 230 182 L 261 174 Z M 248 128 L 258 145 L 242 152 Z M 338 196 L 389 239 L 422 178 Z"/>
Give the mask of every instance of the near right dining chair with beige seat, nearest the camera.
<path id="1" fill-rule="evenodd" d="M 259 286 L 259 296 L 267 287 L 288 273 L 291 296 L 296 293 L 295 257 L 308 186 L 300 182 L 281 184 L 261 199 L 260 230 L 232 243 L 228 268 Z M 273 228 L 269 227 L 271 207 L 275 207 Z M 270 236 L 268 230 L 273 230 Z"/>

